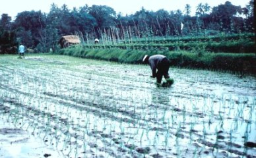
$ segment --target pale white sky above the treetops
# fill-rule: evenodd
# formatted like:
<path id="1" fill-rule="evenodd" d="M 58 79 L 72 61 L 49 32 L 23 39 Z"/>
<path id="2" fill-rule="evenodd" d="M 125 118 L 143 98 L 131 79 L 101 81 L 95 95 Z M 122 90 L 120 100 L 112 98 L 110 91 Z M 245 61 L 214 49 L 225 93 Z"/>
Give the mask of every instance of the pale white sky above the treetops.
<path id="1" fill-rule="evenodd" d="M 140 11 L 142 7 L 147 11 L 158 11 L 164 9 L 166 11 L 176 11 L 180 9 L 185 10 L 185 5 L 191 6 L 191 15 L 195 14 L 196 7 L 199 3 L 208 3 L 210 7 L 215 7 L 220 4 L 224 4 L 227 0 L 1 0 L 0 15 L 3 13 L 9 14 L 12 20 L 15 16 L 22 11 L 42 11 L 43 13 L 49 13 L 51 4 L 55 3 L 58 7 L 63 4 L 67 5 L 68 9 L 73 7 L 82 7 L 88 5 L 107 5 L 112 7 L 116 13 L 134 14 L 136 11 Z M 245 7 L 249 3 L 249 0 L 229 0 L 232 5 L 240 5 Z"/>

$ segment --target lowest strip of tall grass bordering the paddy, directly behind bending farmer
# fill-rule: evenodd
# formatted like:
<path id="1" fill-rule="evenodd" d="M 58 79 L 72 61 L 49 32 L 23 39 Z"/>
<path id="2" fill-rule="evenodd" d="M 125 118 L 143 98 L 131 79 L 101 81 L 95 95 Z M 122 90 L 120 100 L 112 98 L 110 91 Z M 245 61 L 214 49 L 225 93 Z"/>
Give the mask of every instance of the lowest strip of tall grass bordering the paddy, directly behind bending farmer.
<path id="1" fill-rule="evenodd" d="M 57 54 L 131 64 L 143 64 L 144 55 L 162 54 L 170 59 L 171 66 L 256 73 L 255 53 L 206 53 L 200 48 L 193 53 L 192 51 L 161 51 L 159 49 L 84 49 L 83 47 L 70 47 L 61 49 Z"/>

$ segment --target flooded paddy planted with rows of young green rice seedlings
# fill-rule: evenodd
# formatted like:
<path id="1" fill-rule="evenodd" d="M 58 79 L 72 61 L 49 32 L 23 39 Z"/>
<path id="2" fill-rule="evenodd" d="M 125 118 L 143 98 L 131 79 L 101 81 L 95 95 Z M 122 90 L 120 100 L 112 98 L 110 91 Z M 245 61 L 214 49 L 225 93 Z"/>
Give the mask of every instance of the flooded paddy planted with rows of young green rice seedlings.
<path id="1" fill-rule="evenodd" d="M 245 146 L 256 143 L 254 77 L 170 68 L 174 85 L 157 88 L 150 73 L 146 65 L 1 56 L 1 120 L 59 157 L 255 157 Z"/>

